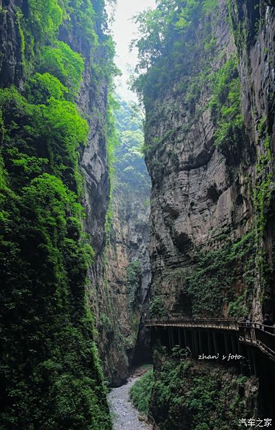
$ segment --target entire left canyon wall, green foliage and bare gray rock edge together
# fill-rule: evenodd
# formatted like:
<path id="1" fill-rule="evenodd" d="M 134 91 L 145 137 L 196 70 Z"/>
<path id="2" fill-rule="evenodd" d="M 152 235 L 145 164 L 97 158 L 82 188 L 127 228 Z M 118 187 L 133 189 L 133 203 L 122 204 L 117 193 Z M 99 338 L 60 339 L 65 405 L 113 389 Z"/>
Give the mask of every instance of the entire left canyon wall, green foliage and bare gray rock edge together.
<path id="1" fill-rule="evenodd" d="M 107 91 L 113 52 L 104 33 L 104 2 L 95 2 L 95 10 L 92 5 L 0 2 L 0 296 L 5 333 L 0 427 L 5 429 L 111 429 L 94 316 L 98 320 L 104 291 L 100 281 L 110 190 Z M 59 115 L 52 116 L 52 123 L 45 113 L 50 110 Z M 88 127 L 78 112 L 89 125 L 87 139 Z M 13 169 L 9 152 L 21 160 L 22 170 Z M 36 166 L 32 172 L 24 170 L 24 160 Z M 71 200 L 65 202 L 67 196 Z M 85 221 L 78 204 L 82 197 Z"/>

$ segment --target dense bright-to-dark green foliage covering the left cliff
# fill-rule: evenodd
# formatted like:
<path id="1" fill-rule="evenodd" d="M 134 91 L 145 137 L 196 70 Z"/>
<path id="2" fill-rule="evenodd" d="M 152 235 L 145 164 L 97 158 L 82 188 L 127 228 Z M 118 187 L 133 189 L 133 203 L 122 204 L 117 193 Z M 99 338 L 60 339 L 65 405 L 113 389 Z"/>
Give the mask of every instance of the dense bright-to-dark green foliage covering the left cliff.
<path id="1" fill-rule="evenodd" d="M 74 99 L 100 43 L 111 79 L 100 15 L 88 0 L 28 1 L 17 12 L 24 88 L 0 90 L 1 430 L 111 428 L 85 292 L 94 250 L 78 152 L 89 127 Z M 61 24 L 87 58 L 58 40 Z"/>

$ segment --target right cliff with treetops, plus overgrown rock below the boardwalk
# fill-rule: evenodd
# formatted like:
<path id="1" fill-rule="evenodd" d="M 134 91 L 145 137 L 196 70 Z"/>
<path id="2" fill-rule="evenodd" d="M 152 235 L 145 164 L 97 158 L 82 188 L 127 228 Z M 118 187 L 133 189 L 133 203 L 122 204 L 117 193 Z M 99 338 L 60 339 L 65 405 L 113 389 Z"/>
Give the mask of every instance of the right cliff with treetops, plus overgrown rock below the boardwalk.
<path id="1" fill-rule="evenodd" d="M 137 17 L 152 317 L 274 317 L 274 6 L 159 0 Z M 258 380 L 178 353 L 155 351 L 161 429 L 237 429 L 232 411 L 268 410 L 265 365 Z"/>

